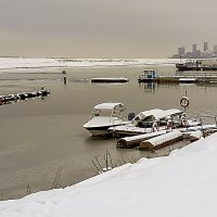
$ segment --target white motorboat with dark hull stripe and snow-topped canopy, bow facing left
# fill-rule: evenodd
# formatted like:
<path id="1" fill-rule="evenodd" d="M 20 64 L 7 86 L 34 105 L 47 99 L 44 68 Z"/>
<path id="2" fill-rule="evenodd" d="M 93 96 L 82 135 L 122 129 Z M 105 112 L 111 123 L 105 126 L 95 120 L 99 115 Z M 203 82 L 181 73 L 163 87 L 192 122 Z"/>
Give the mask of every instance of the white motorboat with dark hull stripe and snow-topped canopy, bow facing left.
<path id="1" fill-rule="evenodd" d="M 123 103 L 102 103 L 93 107 L 89 122 L 84 128 L 89 130 L 92 136 L 111 135 L 110 127 L 129 124 L 123 115 L 125 106 Z"/>

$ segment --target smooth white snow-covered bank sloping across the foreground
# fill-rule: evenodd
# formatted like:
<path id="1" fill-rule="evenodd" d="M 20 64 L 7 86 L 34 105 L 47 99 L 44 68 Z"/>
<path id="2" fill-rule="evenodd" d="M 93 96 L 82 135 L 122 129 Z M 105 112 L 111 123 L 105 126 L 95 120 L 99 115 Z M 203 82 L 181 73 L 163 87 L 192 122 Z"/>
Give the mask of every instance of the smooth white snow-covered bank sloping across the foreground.
<path id="1" fill-rule="evenodd" d="M 216 217 L 217 135 L 78 184 L 0 202 L 1 217 Z"/>

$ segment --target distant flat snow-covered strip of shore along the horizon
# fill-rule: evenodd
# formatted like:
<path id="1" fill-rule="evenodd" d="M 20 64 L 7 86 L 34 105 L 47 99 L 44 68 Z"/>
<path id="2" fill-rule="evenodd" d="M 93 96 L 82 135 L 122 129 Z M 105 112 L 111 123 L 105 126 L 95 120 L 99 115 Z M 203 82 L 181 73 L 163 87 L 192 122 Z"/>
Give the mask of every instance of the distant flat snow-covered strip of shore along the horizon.
<path id="1" fill-rule="evenodd" d="M 175 64 L 176 59 L 24 59 L 0 58 L 0 69 L 44 67 L 106 67 Z"/>

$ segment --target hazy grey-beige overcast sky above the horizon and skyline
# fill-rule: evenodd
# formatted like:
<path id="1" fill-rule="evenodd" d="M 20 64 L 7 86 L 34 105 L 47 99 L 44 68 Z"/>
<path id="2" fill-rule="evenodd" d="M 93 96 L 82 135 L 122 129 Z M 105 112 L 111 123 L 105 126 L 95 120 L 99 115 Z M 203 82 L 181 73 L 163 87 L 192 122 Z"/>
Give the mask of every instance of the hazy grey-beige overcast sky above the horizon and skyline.
<path id="1" fill-rule="evenodd" d="M 0 0 L 0 55 L 168 58 L 217 44 L 216 0 Z"/>

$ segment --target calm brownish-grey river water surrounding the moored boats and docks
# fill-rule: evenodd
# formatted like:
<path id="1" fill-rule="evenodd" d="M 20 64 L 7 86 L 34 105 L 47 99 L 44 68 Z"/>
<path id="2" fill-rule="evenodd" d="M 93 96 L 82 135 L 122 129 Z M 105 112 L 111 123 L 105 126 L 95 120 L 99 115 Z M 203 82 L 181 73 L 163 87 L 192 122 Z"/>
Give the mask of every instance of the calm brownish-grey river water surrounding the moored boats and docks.
<path id="1" fill-rule="evenodd" d="M 151 66 L 161 74 L 174 74 L 175 66 Z M 116 149 L 116 140 L 91 138 L 82 128 L 92 107 L 102 102 L 123 102 L 126 114 L 150 108 L 181 108 L 188 93 L 188 116 L 214 123 L 217 85 L 139 85 L 139 73 L 146 66 L 72 68 L 63 85 L 62 69 L 14 69 L 0 72 L 0 94 L 34 91 L 44 86 L 51 94 L 0 106 L 0 199 L 66 187 L 97 175 L 95 156 L 104 164 L 106 151 L 113 164 L 135 162 L 142 156 L 167 155 L 177 143 L 155 153 L 138 149 Z M 128 77 L 126 85 L 91 84 L 93 77 Z M 62 170 L 61 170 L 62 169 Z M 61 170 L 59 176 L 59 170 Z"/>

